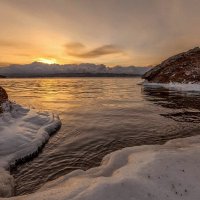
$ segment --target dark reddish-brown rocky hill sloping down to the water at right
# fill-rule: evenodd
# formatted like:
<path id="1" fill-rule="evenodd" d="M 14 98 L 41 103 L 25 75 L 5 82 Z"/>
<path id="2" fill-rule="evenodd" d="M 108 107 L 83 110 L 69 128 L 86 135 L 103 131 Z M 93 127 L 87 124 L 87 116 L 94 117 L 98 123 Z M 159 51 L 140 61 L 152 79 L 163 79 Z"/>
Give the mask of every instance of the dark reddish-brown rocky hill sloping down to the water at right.
<path id="1" fill-rule="evenodd" d="M 168 58 L 142 78 L 154 83 L 200 83 L 200 48 Z"/>

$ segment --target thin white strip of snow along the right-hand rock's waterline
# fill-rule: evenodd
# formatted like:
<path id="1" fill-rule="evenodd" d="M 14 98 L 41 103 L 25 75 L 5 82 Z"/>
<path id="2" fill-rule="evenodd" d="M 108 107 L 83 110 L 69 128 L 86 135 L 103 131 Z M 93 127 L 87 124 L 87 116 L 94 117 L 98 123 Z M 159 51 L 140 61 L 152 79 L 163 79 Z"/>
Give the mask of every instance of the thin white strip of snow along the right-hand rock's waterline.
<path id="1" fill-rule="evenodd" d="M 195 83 L 149 83 L 148 81 L 145 81 L 143 83 L 144 86 L 147 87 L 163 87 L 170 90 L 178 90 L 178 91 L 200 91 L 200 84 Z"/>

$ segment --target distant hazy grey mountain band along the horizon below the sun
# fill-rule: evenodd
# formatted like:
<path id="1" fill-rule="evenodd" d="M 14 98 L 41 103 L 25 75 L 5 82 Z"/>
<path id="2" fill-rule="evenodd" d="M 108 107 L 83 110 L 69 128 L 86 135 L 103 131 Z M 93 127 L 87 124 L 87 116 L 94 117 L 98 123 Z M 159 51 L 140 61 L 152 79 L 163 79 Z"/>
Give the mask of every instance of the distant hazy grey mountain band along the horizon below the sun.
<path id="1" fill-rule="evenodd" d="M 150 67 L 107 67 L 95 64 L 44 64 L 33 62 L 26 65 L 10 65 L 0 67 L 0 74 L 6 77 L 110 77 L 110 76 L 142 76 Z"/>

